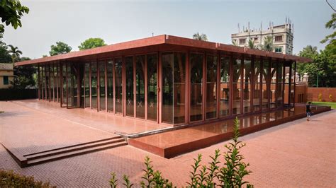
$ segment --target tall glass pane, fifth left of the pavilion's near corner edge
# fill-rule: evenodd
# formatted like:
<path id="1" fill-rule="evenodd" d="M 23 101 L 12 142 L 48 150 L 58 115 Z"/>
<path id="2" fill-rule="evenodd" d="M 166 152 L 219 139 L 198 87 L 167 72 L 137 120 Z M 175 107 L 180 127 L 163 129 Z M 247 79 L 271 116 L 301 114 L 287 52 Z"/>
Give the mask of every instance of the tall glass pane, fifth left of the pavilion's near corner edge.
<path id="1" fill-rule="evenodd" d="M 123 59 L 116 59 L 114 65 L 116 76 L 116 113 L 123 113 Z"/>

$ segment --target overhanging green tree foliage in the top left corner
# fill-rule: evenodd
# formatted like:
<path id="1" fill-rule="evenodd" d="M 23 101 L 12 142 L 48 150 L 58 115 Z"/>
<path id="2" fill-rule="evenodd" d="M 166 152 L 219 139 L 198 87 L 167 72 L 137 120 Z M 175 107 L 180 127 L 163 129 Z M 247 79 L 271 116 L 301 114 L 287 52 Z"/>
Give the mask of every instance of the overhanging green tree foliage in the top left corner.
<path id="1" fill-rule="evenodd" d="M 21 16 L 28 13 L 29 8 L 22 6 L 18 0 L 1 0 L 0 1 L 0 17 L 2 23 L 12 25 L 14 29 L 18 26 L 22 27 Z M 5 26 L 0 24 L 0 33 L 4 33 Z"/>

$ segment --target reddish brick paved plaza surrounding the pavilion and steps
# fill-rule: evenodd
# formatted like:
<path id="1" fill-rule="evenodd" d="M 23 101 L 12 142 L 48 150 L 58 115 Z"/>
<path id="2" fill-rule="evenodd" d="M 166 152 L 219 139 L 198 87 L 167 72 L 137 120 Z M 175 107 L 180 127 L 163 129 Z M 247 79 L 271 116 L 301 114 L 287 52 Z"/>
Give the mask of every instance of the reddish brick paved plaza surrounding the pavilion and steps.
<path id="1" fill-rule="evenodd" d="M 22 153 L 104 139 L 113 136 L 114 131 L 133 133 L 162 128 L 154 124 L 142 126 L 140 122 L 129 127 L 128 122 L 123 122 L 123 127 L 118 127 L 115 124 L 118 120 L 109 124 L 108 120 L 114 118 L 108 114 L 58 106 L 46 108 L 34 100 L 1 101 L 0 111 L 5 111 L 0 114 L 0 143 Z M 100 123 L 94 124 L 92 119 Z M 335 187 L 335 122 L 336 112 L 332 110 L 313 116 L 310 122 L 299 119 L 242 136 L 241 140 L 247 143 L 242 153 L 253 171 L 247 180 L 256 187 Z M 224 151 L 224 143 L 171 159 L 121 146 L 28 168 L 20 168 L 0 145 L 0 168 L 33 175 L 37 180 L 50 180 L 58 187 L 108 187 L 111 172 L 116 172 L 120 184 L 123 174 L 139 182 L 143 158 L 149 155 L 155 169 L 181 187 L 189 180 L 193 158 L 202 153 L 203 163 L 208 163 L 207 156 L 216 148 Z"/>

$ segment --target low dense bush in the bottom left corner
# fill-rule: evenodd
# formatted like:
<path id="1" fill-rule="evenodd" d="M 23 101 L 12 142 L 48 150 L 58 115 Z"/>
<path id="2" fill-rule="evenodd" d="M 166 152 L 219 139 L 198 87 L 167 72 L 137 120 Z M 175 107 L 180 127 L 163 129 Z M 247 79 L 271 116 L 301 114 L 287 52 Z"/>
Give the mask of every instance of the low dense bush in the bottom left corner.
<path id="1" fill-rule="evenodd" d="M 32 176 L 16 174 L 13 171 L 0 170 L 0 187 L 52 187 L 49 182 L 35 181 Z"/>

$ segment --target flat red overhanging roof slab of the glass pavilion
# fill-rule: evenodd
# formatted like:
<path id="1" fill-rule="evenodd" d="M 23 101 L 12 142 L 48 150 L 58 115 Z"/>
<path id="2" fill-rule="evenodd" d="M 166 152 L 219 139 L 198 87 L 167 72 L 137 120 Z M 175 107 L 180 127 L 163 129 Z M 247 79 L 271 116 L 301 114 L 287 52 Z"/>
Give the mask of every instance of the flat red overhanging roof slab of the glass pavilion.
<path id="1" fill-rule="evenodd" d="M 42 57 L 39 59 L 32 59 L 28 61 L 20 61 L 15 63 L 15 66 L 23 66 L 28 64 L 44 64 L 52 61 L 62 61 L 66 59 L 74 59 L 81 57 L 89 57 L 97 54 L 106 54 L 110 52 L 118 52 L 127 49 L 137 49 L 143 47 L 152 47 L 156 45 L 175 45 L 181 47 L 192 47 L 198 49 L 218 50 L 223 52 L 233 52 L 237 54 L 249 54 L 258 57 L 271 57 L 275 59 L 284 59 L 287 61 L 301 61 L 311 62 L 312 59 L 306 57 L 298 57 L 289 54 L 279 54 L 275 52 L 267 52 L 259 49 L 249 49 L 247 47 L 236 47 L 233 45 L 225 45 L 218 42 L 207 42 L 201 40 L 194 40 L 185 37 L 176 37 L 172 35 L 158 35 L 155 37 L 147 37 L 140 40 L 131 40 L 128 42 L 121 42 L 114 45 L 107 45 L 103 47 L 96 47 L 93 49 L 86 49 L 77 52 L 69 52 L 67 54 L 60 54 L 51 57 Z"/>

